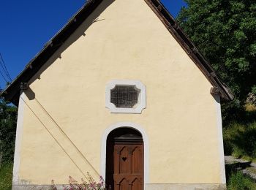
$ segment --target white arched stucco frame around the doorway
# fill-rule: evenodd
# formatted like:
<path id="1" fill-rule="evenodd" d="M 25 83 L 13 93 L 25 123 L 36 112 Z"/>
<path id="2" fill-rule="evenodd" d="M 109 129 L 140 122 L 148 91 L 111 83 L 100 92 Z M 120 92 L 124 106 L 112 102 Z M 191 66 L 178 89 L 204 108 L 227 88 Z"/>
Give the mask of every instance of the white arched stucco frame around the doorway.
<path id="1" fill-rule="evenodd" d="M 114 123 L 108 127 L 108 129 L 105 129 L 105 132 L 102 134 L 102 148 L 101 148 L 101 166 L 100 166 L 100 175 L 105 180 L 105 173 L 106 173 L 106 151 L 107 151 L 107 138 L 108 134 L 112 132 L 114 129 L 118 129 L 121 127 L 131 128 L 135 129 L 143 137 L 143 143 L 144 143 L 144 189 L 147 183 L 149 183 L 149 144 L 148 144 L 148 135 L 146 134 L 146 131 L 143 129 L 143 127 L 139 126 L 136 123 L 131 122 L 119 122 Z"/>

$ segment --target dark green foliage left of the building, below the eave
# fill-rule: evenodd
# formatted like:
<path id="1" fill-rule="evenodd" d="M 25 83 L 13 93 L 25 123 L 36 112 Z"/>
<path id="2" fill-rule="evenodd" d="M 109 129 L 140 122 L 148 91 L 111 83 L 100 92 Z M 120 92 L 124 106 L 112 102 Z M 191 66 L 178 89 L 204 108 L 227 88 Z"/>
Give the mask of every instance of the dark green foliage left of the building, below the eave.
<path id="1" fill-rule="evenodd" d="M 2 161 L 12 161 L 15 148 L 17 108 L 0 99 L 0 154 Z"/>

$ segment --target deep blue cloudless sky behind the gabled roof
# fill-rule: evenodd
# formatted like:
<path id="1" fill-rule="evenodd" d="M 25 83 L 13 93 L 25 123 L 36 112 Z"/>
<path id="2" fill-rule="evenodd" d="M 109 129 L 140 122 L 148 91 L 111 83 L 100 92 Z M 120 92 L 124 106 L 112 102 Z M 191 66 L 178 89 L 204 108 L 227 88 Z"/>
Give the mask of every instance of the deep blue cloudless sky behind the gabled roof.
<path id="1" fill-rule="evenodd" d="M 4 0 L 0 6 L 0 53 L 12 80 L 86 0 Z M 162 0 L 176 17 L 183 0 Z M 2 70 L 1 70 L 2 71 Z M 0 75 L 0 88 L 6 82 Z"/>

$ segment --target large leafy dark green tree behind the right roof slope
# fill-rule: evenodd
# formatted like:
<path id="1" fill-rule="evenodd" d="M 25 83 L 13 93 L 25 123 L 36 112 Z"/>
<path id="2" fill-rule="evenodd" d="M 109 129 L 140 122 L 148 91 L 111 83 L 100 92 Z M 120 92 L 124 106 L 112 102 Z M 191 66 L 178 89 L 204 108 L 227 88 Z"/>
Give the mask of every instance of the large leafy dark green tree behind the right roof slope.
<path id="1" fill-rule="evenodd" d="M 184 1 L 178 23 L 235 94 L 224 116 L 237 118 L 256 94 L 256 1 Z"/>

